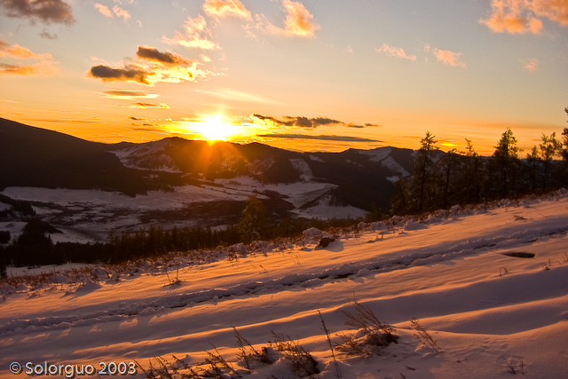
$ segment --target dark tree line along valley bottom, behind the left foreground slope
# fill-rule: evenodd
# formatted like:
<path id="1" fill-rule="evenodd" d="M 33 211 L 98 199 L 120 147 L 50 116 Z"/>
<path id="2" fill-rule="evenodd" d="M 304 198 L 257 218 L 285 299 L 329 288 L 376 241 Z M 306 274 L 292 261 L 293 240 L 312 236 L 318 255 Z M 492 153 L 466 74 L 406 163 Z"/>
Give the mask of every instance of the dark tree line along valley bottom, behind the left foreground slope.
<path id="1" fill-rule="evenodd" d="M 264 202 L 256 194 L 246 201 L 241 221 L 223 229 L 197 226 L 164 230 L 160 226 L 151 226 L 133 233 L 109 233 L 104 243 L 53 243 L 51 234 L 59 231 L 38 218 L 31 218 L 18 238 L 8 246 L 0 246 L 0 278 L 6 275 L 6 265 L 62 265 L 67 262 L 119 264 L 159 257 L 170 251 L 215 249 L 240 242 L 294 237 L 312 226 L 327 229 L 352 223 L 353 220 L 293 218 L 274 222 L 270 220 Z M 10 241 L 9 233 L 0 237 L 4 242 Z"/>

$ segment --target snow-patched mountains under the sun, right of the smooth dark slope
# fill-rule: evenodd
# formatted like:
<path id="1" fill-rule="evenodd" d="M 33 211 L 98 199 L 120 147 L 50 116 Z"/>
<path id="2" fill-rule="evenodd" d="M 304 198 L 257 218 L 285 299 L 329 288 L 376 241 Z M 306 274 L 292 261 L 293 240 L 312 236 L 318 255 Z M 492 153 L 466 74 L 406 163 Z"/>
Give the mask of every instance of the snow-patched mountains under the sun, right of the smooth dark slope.
<path id="1" fill-rule="evenodd" d="M 343 153 L 298 153 L 258 143 L 211 144 L 165 138 L 146 144 L 117 144 L 121 162 L 138 170 L 183 173 L 209 180 L 247 176 L 269 184 L 319 182 L 334 185 L 336 204 L 387 209 L 394 183 L 412 171 L 410 149 L 380 147 Z"/>

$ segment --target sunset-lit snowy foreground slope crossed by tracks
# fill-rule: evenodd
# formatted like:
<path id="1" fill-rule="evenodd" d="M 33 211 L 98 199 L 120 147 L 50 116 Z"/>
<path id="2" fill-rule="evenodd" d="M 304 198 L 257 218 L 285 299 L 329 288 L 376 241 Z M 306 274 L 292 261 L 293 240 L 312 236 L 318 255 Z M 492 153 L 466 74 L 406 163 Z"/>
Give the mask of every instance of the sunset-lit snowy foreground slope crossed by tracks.
<path id="1" fill-rule="evenodd" d="M 296 379 L 278 351 L 248 375 L 235 327 L 258 351 L 274 342 L 272 331 L 288 335 L 317 360 L 314 377 L 335 378 L 319 312 L 341 343 L 355 332 L 343 312 L 356 301 L 399 338 L 367 358 L 335 351 L 343 378 L 509 378 L 510 367 L 527 378 L 566 377 L 567 209 L 557 193 L 361 224 L 325 249 L 311 230 L 299 241 L 57 272 L 43 287 L 12 280 L 0 287 L 0 376 L 14 377 L 13 361 L 99 368 L 136 359 L 147 368 L 154 357 L 199 372 L 213 351 L 245 378 Z M 513 251 L 535 257 L 504 255 Z M 413 318 L 442 352 L 416 337 Z"/>

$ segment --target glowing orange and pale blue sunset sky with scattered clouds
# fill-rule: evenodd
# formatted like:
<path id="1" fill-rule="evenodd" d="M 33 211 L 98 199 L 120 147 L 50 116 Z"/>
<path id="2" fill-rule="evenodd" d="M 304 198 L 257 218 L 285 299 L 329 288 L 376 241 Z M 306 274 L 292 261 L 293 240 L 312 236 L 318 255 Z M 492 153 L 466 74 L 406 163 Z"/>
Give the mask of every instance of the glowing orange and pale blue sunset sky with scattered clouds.
<path id="1" fill-rule="evenodd" d="M 566 0 L 0 0 L 0 117 L 93 141 L 528 152 L 565 107 Z"/>

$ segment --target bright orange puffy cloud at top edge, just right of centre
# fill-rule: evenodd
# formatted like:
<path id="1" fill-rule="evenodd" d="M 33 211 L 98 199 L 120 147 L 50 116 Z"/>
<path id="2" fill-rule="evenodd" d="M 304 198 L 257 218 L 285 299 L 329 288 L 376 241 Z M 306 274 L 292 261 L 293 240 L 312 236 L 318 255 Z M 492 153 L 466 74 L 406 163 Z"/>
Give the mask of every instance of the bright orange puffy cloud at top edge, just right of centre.
<path id="1" fill-rule="evenodd" d="M 282 0 L 282 6 L 286 12 L 284 28 L 279 28 L 262 14 L 256 15 L 256 28 L 263 29 L 274 35 L 284 36 L 314 36 L 315 31 L 320 27 L 313 22 L 313 15 L 300 2 Z"/>

